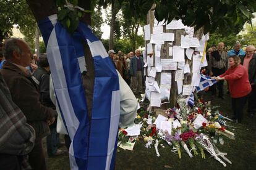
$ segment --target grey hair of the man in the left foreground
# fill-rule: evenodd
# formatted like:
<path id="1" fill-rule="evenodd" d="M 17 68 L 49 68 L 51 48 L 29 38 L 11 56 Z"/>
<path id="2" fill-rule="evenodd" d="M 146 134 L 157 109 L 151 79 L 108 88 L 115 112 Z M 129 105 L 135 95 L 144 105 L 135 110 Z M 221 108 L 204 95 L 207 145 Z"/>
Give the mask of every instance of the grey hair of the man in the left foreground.
<path id="1" fill-rule="evenodd" d="M 12 59 L 12 54 L 14 51 L 22 54 L 22 49 L 19 45 L 19 41 L 22 39 L 19 38 L 9 38 L 4 41 L 4 57 L 5 59 Z"/>

